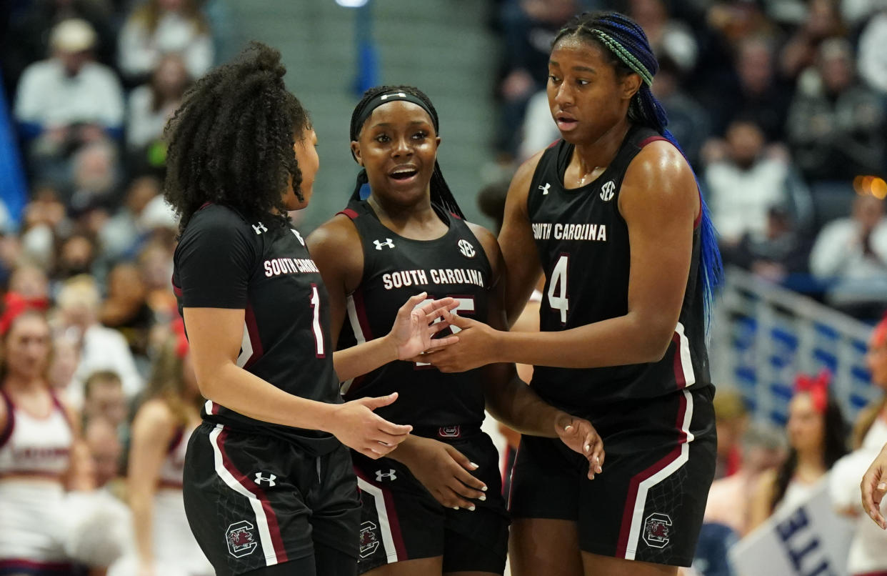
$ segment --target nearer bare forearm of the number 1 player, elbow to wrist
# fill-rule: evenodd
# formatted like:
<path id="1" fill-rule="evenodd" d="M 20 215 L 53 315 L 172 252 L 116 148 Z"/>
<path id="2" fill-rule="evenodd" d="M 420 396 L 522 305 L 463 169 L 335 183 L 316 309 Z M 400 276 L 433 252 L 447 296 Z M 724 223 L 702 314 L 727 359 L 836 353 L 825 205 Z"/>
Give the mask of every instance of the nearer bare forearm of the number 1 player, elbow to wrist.
<path id="1" fill-rule="evenodd" d="M 202 381 L 202 382 L 201 382 Z M 262 422 L 329 431 L 336 405 L 294 396 L 233 363 L 198 375 L 200 392 L 239 414 Z"/>

